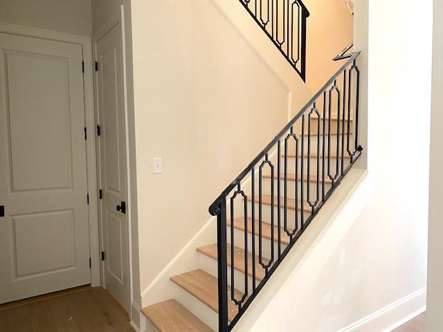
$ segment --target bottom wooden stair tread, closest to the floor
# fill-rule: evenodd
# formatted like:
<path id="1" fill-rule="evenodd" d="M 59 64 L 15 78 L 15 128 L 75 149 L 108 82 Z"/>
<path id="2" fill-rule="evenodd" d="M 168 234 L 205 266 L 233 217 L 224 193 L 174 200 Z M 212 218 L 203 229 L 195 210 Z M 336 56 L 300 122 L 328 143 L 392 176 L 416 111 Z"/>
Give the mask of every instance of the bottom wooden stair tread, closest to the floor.
<path id="1" fill-rule="evenodd" d="M 152 304 L 142 312 L 160 332 L 214 332 L 176 299 Z"/>

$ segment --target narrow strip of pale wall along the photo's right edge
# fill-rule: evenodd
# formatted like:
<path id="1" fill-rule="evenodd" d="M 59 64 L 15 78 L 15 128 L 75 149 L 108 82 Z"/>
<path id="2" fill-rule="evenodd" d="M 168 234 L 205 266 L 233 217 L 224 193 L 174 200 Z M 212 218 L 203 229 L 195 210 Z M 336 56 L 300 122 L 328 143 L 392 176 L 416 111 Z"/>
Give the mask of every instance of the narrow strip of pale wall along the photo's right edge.
<path id="1" fill-rule="evenodd" d="M 443 329 L 443 1 L 434 0 L 431 178 L 429 191 L 428 331 Z"/>

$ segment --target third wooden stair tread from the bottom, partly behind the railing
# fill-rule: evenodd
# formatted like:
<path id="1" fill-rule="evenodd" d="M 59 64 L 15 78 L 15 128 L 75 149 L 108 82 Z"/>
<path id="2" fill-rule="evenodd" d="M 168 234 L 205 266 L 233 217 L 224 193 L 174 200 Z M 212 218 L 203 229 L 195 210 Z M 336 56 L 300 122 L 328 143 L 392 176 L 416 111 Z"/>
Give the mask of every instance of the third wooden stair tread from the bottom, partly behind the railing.
<path id="1" fill-rule="evenodd" d="M 197 251 L 203 255 L 206 255 L 212 259 L 217 260 L 217 243 L 210 244 L 209 246 L 203 246 L 197 248 Z M 230 266 L 230 244 L 228 244 L 228 250 L 226 252 L 228 255 L 228 266 Z M 264 264 L 268 262 L 264 259 Z M 234 246 L 234 268 L 235 270 L 244 273 L 244 250 Z M 248 252 L 248 275 L 252 277 L 252 254 Z M 264 279 L 264 269 L 259 264 L 259 257 L 255 255 L 255 279 L 260 282 Z"/>

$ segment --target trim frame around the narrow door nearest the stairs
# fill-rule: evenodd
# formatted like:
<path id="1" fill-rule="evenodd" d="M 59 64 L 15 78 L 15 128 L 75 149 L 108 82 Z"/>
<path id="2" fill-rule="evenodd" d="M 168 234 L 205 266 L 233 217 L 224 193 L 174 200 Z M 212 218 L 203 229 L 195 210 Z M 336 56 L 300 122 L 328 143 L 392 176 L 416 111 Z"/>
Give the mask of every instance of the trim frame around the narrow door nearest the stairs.
<path id="1" fill-rule="evenodd" d="M 138 307 L 138 305 L 134 302 L 134 296 L 133 296 L 133 251 L 132 251 L 132 223 L 134 221 L 133 219 L 133 204 L 132 204 L 132 178 L 131 178 L 131 171 L 132 171 L 132 164 L 131 164 L 131 149 L 129 146 L 129 111 L 128 111 L 128 82 L 127 82 L 127 55 L 126 55 L 126 48 L 127 48 L 127 42 L 126 42 L 126 30 L 125 30 L 125 6 L 120 4 L 116 7 L 116 10 L 108 17 L 108 19 L 103 23 L 100 27 L 98 27 L 92 35 L 92 59 L 95 62 L 97 59 L 97 43 L 102 37 L 105 37 L 109 31 L 111 31 L 115 26 L 120 24 L 120 35 L 121 35 L 121 41 L 122 41 L 122 66 L 123 66 L 123 107 L 125 111 L 125 144 L 126 144 L 126 177 L 127 177 L 127 221 L 128 221 L 128 253 L 129 253 L 129 317 L 131 319 L 132 326 L 136 327 L 136 324 L 133 322 L 133 315 L 134 315 L 134 309 L 136 311 L 140 312 L 141 308 Z M 95 87 L 97 82 L 97 76 L 96 73 L 93 73 L 93 86 Z M 94 105 L 95 109 L 98 110 L 98 95 L 96 91 L 94 90 Z M 97 112 L 95 113 L 96 121 L 98 119 Z M 96 141 L 96 151 L 98 151 L 98 141 Z M 96 156 L 96 158 L 100 158 L 100 156 Z M 98 178 L 98 175 L 100 174 L 100 169 L 98 168 L 98 163 L 96 164 L 96 178 Z M 99 213 L 99 212 L 97 212 Z M 97 214 L 98 215 L 98 214 Z M 98 230 L 99 230 L 99 237 L 100 237 L 100 250 L 102 250 L 103 246 L 103 228 L 100 223 L 100 218 L 98 219 Z M 100 264 L 100 275 L 102 278 L 105 275 L 105 264 L 104 262 L 101 262 Z M 103 279 L 102 279 L 103 281 Z M 103 284 L 103 282 L 102 282 Z M 136 330 L 137 331 L 137 330 Z"/>

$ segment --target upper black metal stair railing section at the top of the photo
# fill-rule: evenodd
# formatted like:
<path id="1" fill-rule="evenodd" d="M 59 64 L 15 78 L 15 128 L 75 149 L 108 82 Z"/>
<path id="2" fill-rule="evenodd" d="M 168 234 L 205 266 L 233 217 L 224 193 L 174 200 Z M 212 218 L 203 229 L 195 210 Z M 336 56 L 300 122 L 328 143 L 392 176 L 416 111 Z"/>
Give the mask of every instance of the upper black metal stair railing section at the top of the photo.
<path id="1" fill-rule="evenodd" d="M 306 26 L 309 10 L 301 0 L 239 0 L 280 50 L 289 64 L 306 80 Z"/>

